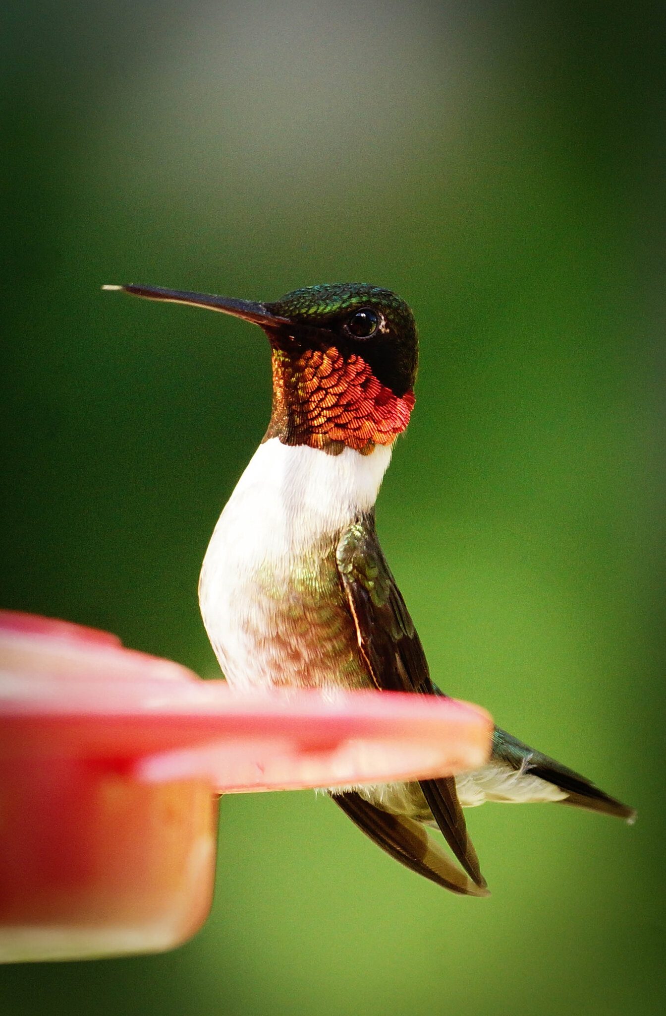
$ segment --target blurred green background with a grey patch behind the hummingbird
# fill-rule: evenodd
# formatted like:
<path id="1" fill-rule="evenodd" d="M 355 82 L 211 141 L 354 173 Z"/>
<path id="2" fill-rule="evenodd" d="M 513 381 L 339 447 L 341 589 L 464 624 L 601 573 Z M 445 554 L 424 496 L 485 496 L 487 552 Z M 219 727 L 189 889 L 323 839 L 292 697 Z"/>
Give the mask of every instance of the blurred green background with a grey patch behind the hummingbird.
<path id="1" fill-rule="evenodd" d="M 5 9 L 3 606 L 215 676 L 266 343 L 99 287 L 387 285 L 422 353 L 379 527 L 436 680 L 640 818 L 469 812 L 467 900 L 321 797 L 235 797 L 193 942 L 1 968 L 0 1013 L 663 1012 L 663 6 Z"/>

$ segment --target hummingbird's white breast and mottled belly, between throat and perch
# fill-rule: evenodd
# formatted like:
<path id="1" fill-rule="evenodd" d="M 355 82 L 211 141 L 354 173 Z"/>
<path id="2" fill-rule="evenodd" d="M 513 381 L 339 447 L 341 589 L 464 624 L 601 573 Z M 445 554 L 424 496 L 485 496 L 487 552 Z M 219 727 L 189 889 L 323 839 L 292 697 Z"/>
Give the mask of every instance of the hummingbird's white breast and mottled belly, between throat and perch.
<path id="1" fill-rule="evenodd" d="M 199 582 L 204 625 L 231 685 L 334 683 L 335 660 L 359 683 L 355 660 L 340 660 L 344 632 L 334 632 L 345 622 L 328 618 L 323 586 L 339 533 L 373 507 L 390 457 L 382 446 L 370 455 L 328 455 L 277 438 L 259 446 L 215 526 Z M 322 638 L 308 638 L 325 611 Z"/>

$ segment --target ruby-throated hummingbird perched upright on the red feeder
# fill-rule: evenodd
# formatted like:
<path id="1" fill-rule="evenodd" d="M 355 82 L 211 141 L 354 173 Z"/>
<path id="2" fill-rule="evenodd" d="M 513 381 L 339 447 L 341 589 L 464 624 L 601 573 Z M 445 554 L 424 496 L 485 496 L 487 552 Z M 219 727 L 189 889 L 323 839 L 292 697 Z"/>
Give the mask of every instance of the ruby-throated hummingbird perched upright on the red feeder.
<path id="1" fill-rule="evenodd" d="M 273 303 L 106 289 L 230 314 L 268 337 L 270 422 L 219 516 L 199 581 L 203 622 L 229 685 L 442 695 L 375 522 L 393 446 L 414 407 L 418 339 L 407 304 L 358 282 L 299 289 Z M 406 868 L 470 896 L 487 895 L 487 886 L 464 807 L 556 802 L 635 818 L 499 727 L 490 760 L 475 772 L 329 793 Z"/>

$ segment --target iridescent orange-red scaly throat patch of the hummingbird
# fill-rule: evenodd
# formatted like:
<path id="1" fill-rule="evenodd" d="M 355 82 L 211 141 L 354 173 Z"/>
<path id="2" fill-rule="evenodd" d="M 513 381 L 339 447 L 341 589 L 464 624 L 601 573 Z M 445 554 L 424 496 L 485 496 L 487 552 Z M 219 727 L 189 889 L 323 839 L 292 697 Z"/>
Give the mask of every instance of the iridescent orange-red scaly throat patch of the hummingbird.
<path id="1" fill-rule="evenodd" d="M 346 360 L 335 346 L 273 348 L 273 415 L 266 439 L 307 444 L 331 454 L 354 448 L 370 454 L 389 445 L 409 423 L 414 393 L 398 397 L 361 357 Z"/>

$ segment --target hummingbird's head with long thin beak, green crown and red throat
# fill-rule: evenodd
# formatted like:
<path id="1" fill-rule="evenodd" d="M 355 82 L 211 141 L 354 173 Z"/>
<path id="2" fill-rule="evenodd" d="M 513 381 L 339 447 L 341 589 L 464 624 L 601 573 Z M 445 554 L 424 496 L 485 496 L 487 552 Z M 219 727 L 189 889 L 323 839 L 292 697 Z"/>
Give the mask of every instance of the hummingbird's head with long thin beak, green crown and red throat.
<path id="1" fill-rule="evenodd" d="M 418 340 L 407 304 L 390 290 L 339 282 L 273 303 L 141 285 L 107 287 L 185 303 L 260 325 L 271 344 L 273 411 L 266 434 L 338 454 L 368 454 L 406 428 Z"/>

